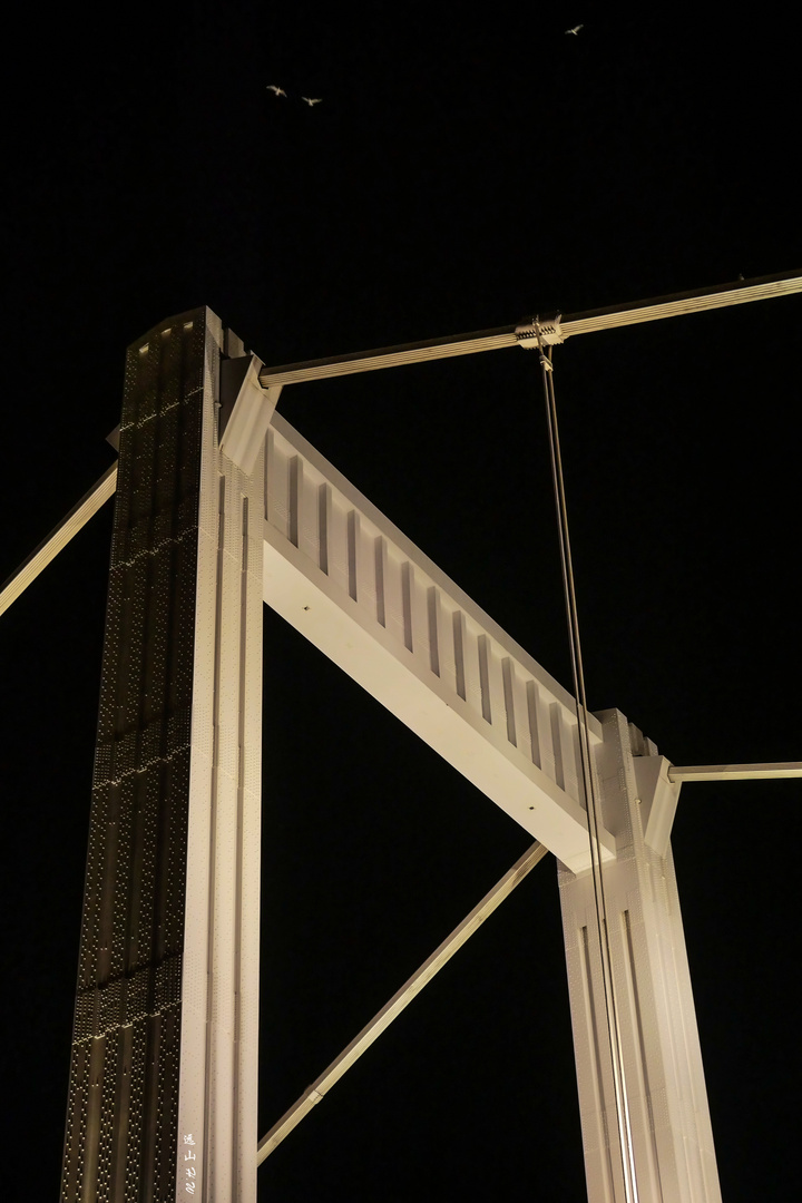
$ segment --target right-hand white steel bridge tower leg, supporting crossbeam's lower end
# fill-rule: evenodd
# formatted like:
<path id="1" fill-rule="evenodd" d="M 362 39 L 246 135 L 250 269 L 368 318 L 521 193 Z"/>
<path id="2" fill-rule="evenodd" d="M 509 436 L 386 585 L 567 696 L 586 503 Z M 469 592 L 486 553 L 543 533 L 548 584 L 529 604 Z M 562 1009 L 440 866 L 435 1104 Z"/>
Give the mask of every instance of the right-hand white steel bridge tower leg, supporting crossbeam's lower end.
<path id="1" fill-rule="evenodd" d="M 612 710 L 601 717 L 601 808 L 618 843 L 614 864 L 604 865 L 604 887 L 638 1199 L 719 1203 L 671 847 L 660 857 L 646 843 L 624 716 Z M 618 1203 L 625 1196 L 593 881 L 560 866 L 559 883 L 588 1199 Z"/>

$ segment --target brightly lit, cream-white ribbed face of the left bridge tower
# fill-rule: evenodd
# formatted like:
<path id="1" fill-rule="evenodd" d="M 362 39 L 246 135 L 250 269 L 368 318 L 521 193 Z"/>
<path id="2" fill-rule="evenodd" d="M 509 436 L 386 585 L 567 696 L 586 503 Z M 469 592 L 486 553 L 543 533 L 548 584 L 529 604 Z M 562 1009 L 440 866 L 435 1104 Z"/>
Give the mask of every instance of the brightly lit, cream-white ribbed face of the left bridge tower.
<path id="1" fill-rule="evenodd" d="M 222 330 L 207 319 L 177 1199 L 189 1133 L 195 1197 L 255 1203 L 265 461 L 246 476 L 220 454 Z"/>

